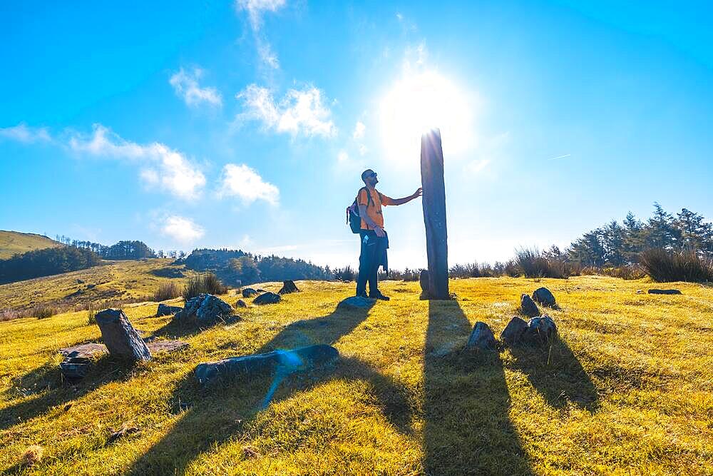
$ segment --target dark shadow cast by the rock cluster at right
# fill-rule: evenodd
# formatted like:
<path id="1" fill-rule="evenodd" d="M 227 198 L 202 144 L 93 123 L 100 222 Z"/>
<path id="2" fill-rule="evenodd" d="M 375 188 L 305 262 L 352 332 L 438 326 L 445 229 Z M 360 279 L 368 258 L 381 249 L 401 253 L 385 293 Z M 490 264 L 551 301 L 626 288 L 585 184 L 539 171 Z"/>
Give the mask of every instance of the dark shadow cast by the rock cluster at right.
<path id="1" fill-rule="evenodd" d="M 561 409 L 571 403 L 590 412 L 598 410 L 597 388 L 559 336 L 555 336 L 551 346 L 519 345 L 510 351 L 515 359 L 512 370 L 524 373 L 548 405 Z"/>

